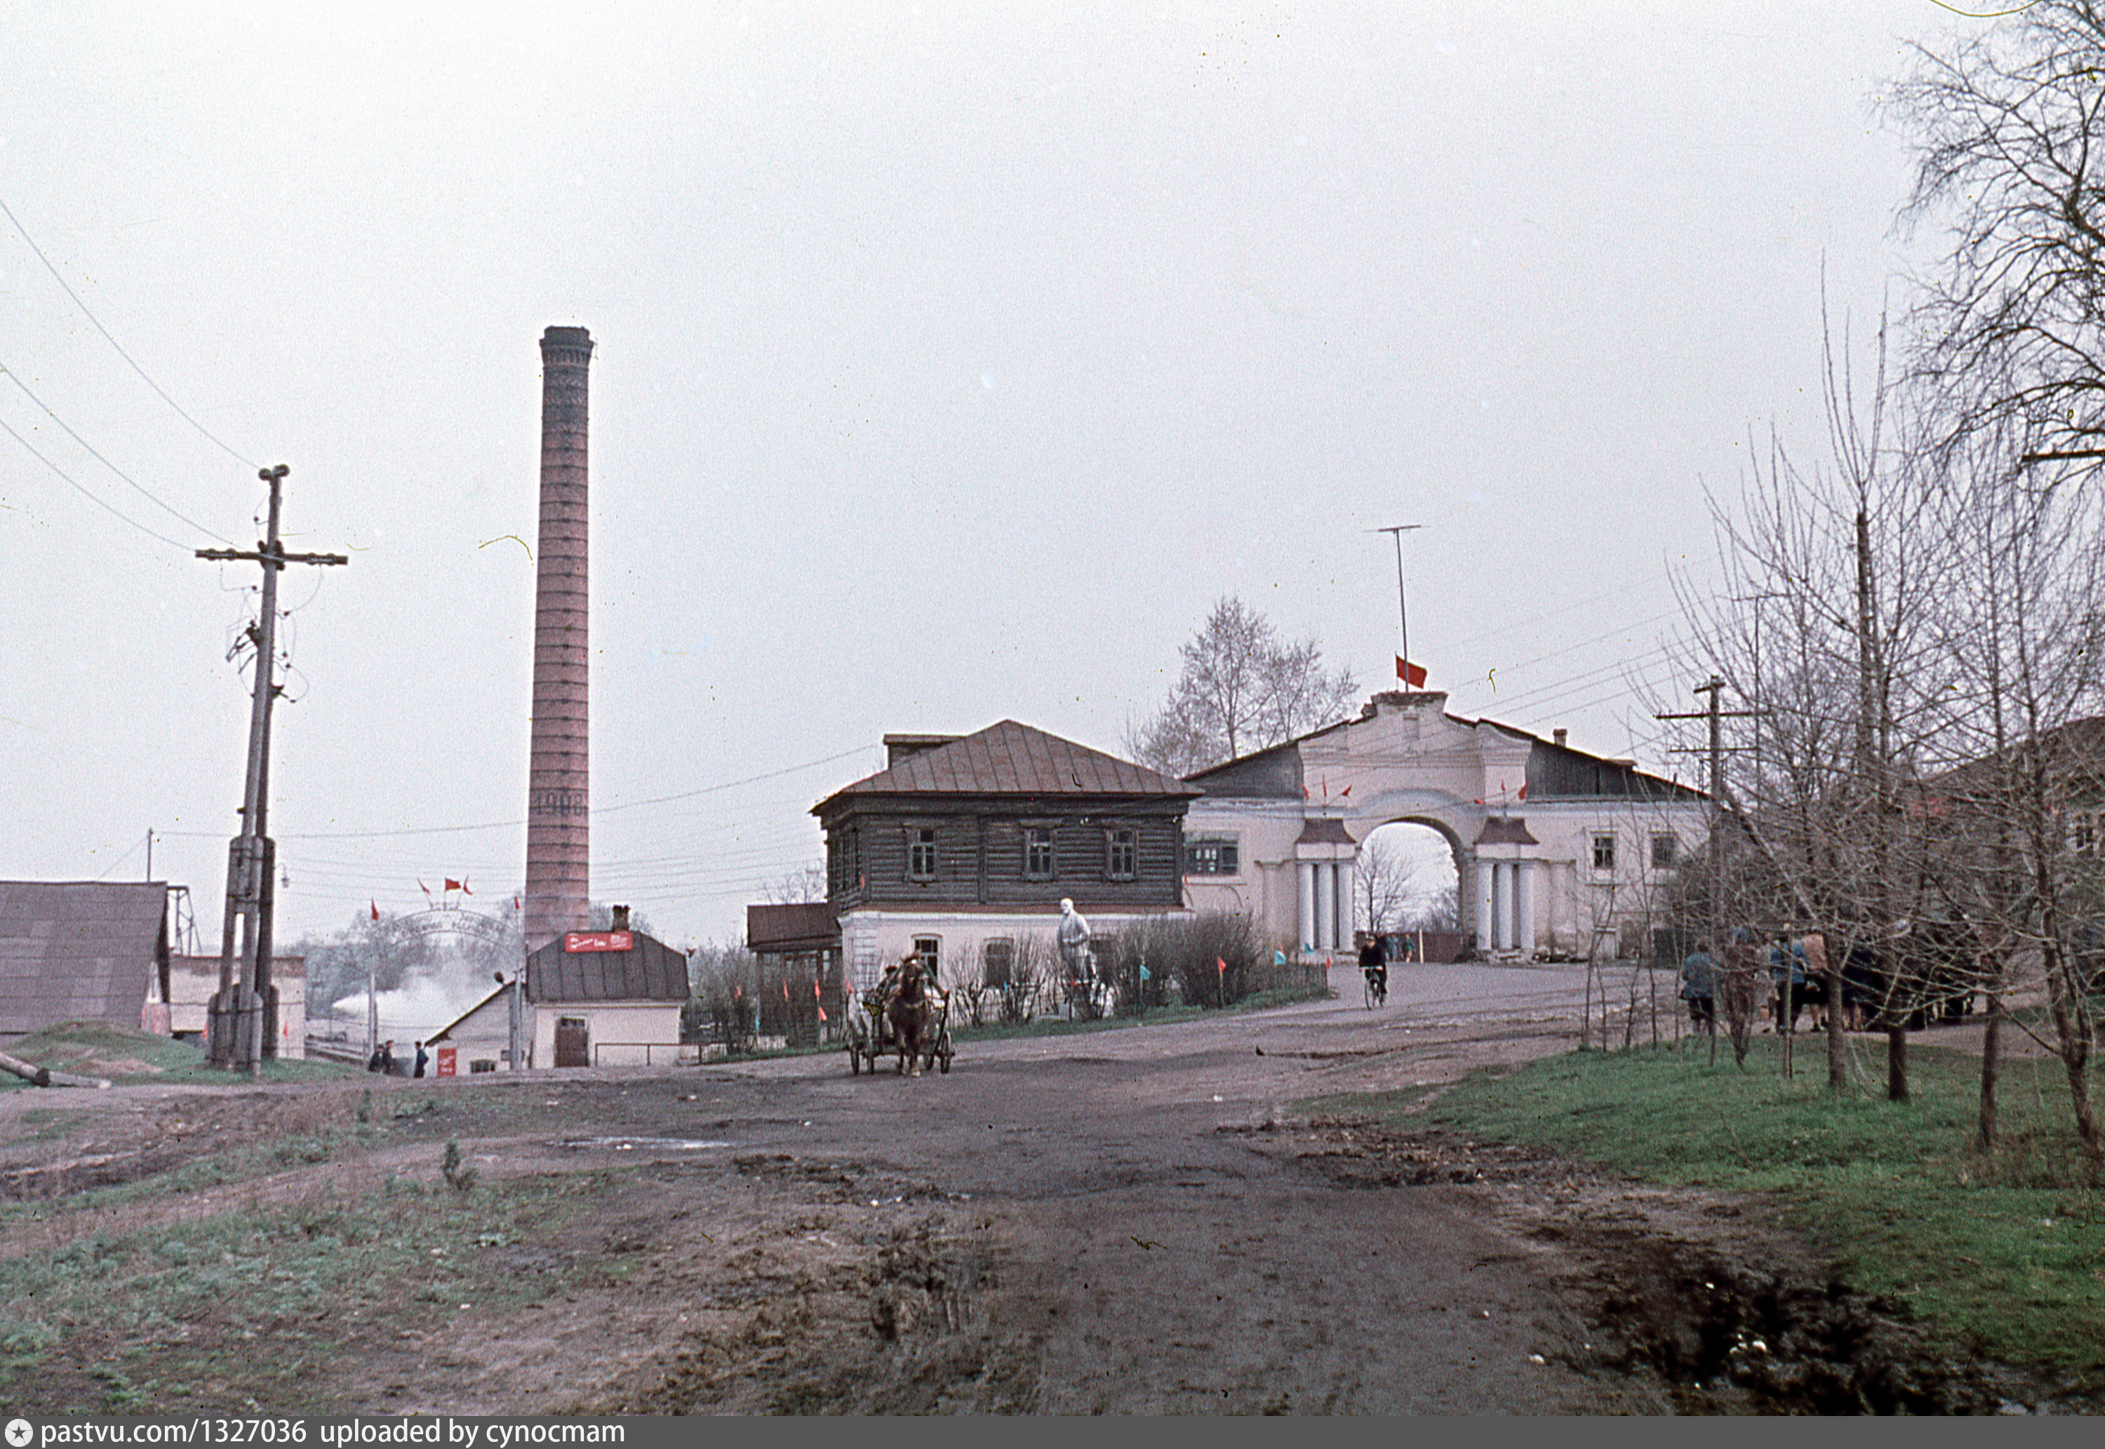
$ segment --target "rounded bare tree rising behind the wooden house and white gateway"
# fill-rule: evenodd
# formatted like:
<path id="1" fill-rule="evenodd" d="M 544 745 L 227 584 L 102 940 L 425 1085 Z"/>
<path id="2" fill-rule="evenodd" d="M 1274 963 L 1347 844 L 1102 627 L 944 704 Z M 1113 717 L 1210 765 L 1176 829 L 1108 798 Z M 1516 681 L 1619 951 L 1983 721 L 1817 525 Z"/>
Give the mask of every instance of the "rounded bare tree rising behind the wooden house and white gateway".
<path id="1" fill-rule="evenodd" d="M 1360 686 L 1324 673 L 1314 639 L 1282 641 L 1242 599 L 1219 599 L 1179 650 L 1183 673 L 1164 707 L 1126 732 L 1126 753 L 1185 776 L 1265 749 L 1345 715 Z"/>

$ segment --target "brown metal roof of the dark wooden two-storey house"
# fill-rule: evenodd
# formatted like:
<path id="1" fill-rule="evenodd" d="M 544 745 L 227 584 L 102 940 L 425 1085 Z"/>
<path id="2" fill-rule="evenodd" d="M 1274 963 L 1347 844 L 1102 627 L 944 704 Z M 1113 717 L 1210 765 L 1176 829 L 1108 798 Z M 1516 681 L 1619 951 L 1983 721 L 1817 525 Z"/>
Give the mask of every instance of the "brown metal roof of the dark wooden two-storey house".
<path id="1" fill-rule="evenodd" d="M 1200 791 L 1145 766 L 1002 719 L 977 734 L 924 749 L 890 770 L 834 791 L 810 808 L 823 814 L 848 795 L 1158 795 Z"/>

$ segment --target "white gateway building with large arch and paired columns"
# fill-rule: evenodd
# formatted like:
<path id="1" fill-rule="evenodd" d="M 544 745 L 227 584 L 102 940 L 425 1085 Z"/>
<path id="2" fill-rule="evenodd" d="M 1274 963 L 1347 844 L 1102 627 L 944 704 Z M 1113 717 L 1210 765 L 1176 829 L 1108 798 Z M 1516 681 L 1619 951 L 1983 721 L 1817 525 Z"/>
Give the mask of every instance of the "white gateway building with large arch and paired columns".
<path id="1" fill-rule="evenodd" d="M 1358 719 L 1189 776 L 1185 904 L 1250 915 L 1303 957 L 1351 948 L 1354 862 L 1375 829 L 1446 837 L 1484 957 L 1646 951 L 1673 871 L 1709 831 L 1701 791 L 1490 719 L 1446 694 L 1377 694 Z M 1290 946 L 1288 946 L 1290 942 Z"/>

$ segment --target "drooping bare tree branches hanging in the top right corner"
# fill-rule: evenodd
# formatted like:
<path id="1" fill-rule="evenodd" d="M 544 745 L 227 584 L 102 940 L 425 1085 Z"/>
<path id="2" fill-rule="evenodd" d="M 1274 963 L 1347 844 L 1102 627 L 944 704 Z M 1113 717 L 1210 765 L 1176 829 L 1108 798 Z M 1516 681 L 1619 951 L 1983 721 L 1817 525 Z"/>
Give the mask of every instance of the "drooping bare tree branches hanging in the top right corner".
<path id="1" fill-rule="evenodd" d="M 1903 215 L 1951 231 L 1916 313 L 1947 446 L 2010 425 L 2040 450 L 2105 444 L 2101 72 L 2105 8 L 2038 0 L 1945 50 L 1916 46 L 1886 97 L 1916 135 Z"/>

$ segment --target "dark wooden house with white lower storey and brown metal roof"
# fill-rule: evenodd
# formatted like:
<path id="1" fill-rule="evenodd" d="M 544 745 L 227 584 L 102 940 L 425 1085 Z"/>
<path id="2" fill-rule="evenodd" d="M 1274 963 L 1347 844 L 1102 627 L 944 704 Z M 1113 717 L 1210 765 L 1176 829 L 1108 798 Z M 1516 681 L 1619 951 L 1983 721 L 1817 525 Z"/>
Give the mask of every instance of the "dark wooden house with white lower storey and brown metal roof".
<path id="1" fill-rule="evenodd" d="M 853 988 L 907 951 L 945 982 L 998 967 L 1052 938 L 1061 900 L 1097 936 L 1183 913 L 1183 780 L 1015 719 L 884 747 L 886 770 L 813 805 Z"/>

